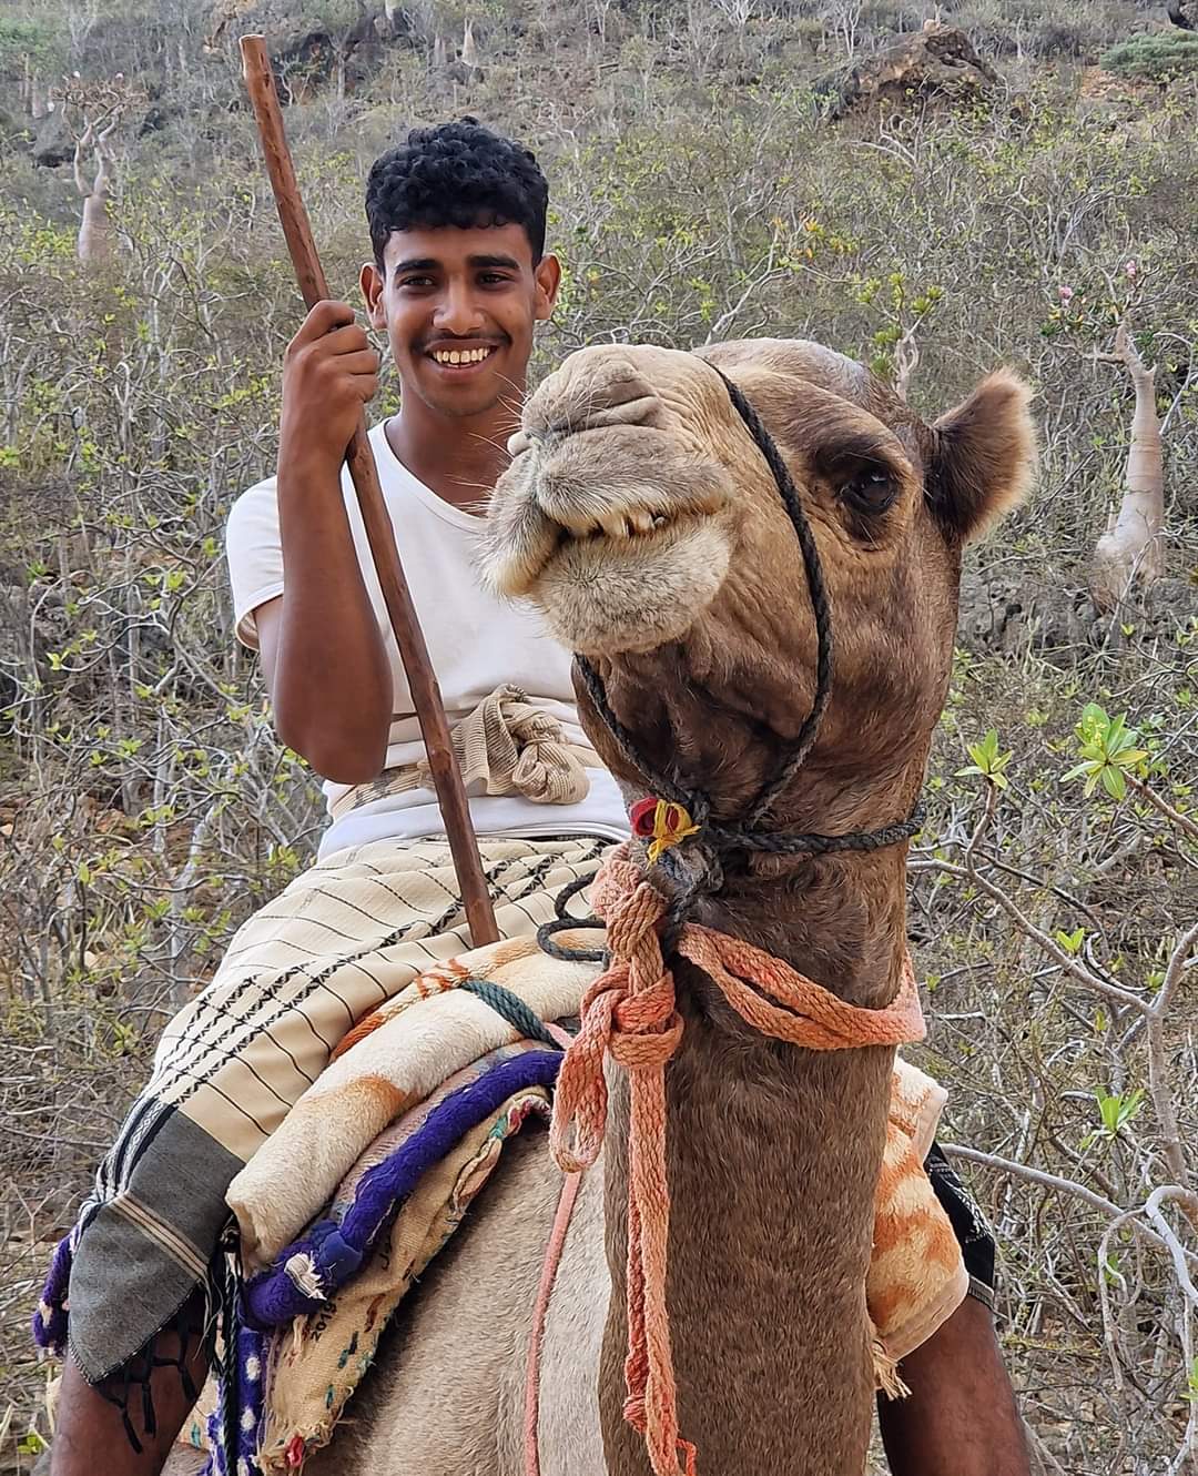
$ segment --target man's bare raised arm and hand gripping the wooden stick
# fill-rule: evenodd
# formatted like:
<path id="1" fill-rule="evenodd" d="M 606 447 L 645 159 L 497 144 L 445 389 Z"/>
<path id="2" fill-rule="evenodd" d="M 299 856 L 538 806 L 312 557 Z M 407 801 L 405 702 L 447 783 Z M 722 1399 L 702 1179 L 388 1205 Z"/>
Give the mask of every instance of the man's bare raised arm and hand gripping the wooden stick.
<path id="1" fill-rule="evenodd" d="M 279 737 L 338 784 L 375 778 L 391 725 L 391 669 L 341 492 L 345 447 L 376 388 L 378 354 L 353 308 L 317 303 L 283 368 L 283 593 L 257 626 Z"/>

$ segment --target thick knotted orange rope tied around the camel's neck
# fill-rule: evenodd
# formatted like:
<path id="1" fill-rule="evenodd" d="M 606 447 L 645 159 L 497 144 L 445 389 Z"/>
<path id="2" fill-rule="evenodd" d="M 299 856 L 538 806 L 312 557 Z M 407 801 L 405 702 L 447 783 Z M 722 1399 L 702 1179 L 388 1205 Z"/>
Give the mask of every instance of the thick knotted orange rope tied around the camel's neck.
<path id="1" fill-rule="evenodd" d="M 550 1142 L 559 1168 L 577 1173 L 603 1145 L 608 1089 L 603 1057 L 629 1073 L 629 1355 L 624 1418 L 649 1451 L 655 1476 L 696 1476 L 696 1452 L 679 1436 L 677 1390 L 665 1306 L 670 1188 L 665 1176 L 665 1063 L 682 1039 L 674 979 L 661 956 L 658 922 L 667 902 L 629 846 L 612 852 L 595 880 L 595 911 L 606 921 L 611 965 L 583 999 L 583 1021 L 558 1076 Z M 910 961 L 885 1010 L 862 1010 L 804 979 L 780 959 L 726 933 L 689 922 L 677 951 L 763 1035 L 811 1051 L 898 1045 L 924 1038 Z M 572 1128 L 572 1142 L 571 1139 Z"/>

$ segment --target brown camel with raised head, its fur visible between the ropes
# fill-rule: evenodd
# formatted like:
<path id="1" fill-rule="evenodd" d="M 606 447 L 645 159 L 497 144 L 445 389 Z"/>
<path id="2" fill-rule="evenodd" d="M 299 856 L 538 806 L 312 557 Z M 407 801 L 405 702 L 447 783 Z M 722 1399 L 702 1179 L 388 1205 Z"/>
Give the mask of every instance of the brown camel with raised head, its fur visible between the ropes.
<path id="1" fill-rule="evenodd" d="M 997 375 L 925 427 L 814 344 L 726 344 L 704 357 L 736 379 L 786 456 L 831 595 L 832 701 L 775 824 L 841 832 L 903 819 L 944 698 L 962 543 L 1027 483 L 1027 393 Z M 531 399 L 513 452 L 494 494 L 491 579 L 531 596 L 595 660 L 655 765 L 736 816 L 810 707 L 814 624 L 794 531 L 719 376 L 661 348 L 584 350 Z M 869 468 L 896 493 L 884 512 L 848 496 Z M 655 527 L 655 515 L 667 521 Z M 586 701 L 583 711 L 639 799 L 634 766 Z M 761 861 L 732 869 L 698 917 L 881 1005 L 897 986 L 903 893 L 901 846 Z M 668 1299 L 683 1433 L 702 1476 L 859 1476 L 891 1052 L 780 1046 L 695 970 L 680 967 L 677 983 Z M 549 1320 L 544 1476 L 648 1472 L 621 1417 L 626 1126 L 617 1082 L 605 1182 L 596 1172 L 584 1187 Z M 525 1342 L 555 1190 L 543 1142 L 519 1144 L 401 1309 L 353 1429 L 313 1476 L 521 1473 Z"/>

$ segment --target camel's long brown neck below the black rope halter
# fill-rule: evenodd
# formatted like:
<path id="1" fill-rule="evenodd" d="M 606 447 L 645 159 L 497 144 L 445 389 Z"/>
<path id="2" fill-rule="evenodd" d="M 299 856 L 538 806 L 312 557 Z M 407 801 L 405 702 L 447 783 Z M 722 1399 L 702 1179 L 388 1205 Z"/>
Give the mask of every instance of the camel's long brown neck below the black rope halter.
<path id="1" fill-rule="evenodd" d="M 900 852 L 732 883 L 699 920 L 882 1005 L 903 951 Z M 897 900 L 896 900 L 897 899 Z M 835 924 L 835 925 L 834 925 Z M 682 1433 L 702 1476 L 865 1469 L 872 1362 L 865 1274 L 893 1051 L 813 1052 L 744 1024 L 685 961 L 667 1070 L 668 1308 Z M 603 1359 L 612 1476 L 645 1476 L 623 1429 L 627 1092 L 605 1150 L 614 1297 Z"/>

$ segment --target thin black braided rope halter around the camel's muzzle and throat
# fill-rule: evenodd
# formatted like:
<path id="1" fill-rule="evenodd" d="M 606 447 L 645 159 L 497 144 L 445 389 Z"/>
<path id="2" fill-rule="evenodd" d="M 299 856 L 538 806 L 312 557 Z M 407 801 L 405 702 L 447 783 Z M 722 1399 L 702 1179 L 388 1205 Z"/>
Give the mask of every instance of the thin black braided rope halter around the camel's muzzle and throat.
<path id="1" fill-rule="evenodd" d="M 658 862 L 658 865 L 662 865 L 667 871 L 673 872 L 673 880 L 677 884 L 677 896 L 670 914 L 673 922 L 680 922 L 683 920 L 696 896 L 711 894 L 720 890 L 723 886 L 723 858 L 729 853 L 755 852 L 789 856 L 826 856 L 832 852 L 842 850 L 878 850 L 882 846 L 894 846 L 901 840 L 909 840 L 919 830 L 922 819 L 921 807 L 916 803 L 915 810 L 906 821 L 897 821 L 893 825 L 882 825 L 873 831 L 853 831 L 847 835 L 822 835 L 810 831 L 772 831 L 766 828 L 779 796 L 791 784 L 811 751 L 811 745 L 816 741 L 820 722 L 823 720 L 823 714 L 828 707 L 828 700 L 832 691 L 834 667 L 832 611 L 828 601 L 828 586 L 823 582 L 823 565 L 820 564 L 819 549 L 816 548 L 811 525 L 807 521 L 807 514 L 803 511 L 803 502 L 795 490 L 789 468 L 782 459 L 773 437 L 761 424 L 761 418 L 757 415 L 757 410 L 754 410 L 749 401 L 726 373 L 716 369 L 714 365 L 711 365 L 711 368 L 717 375 L 720 375 L 720 379 L 727 390 L 727 396 L 736 407 L 736 413 L 745 422 L 745 428 L 764 456 L 766 465 L 773 474 L 778 494 L 782 499 L 782 505 L 786 509 L 786 515 L 789 517 L 791 525 L 795 530 L 795 537 L 798 539 L 798 546 L 803 554 L 803 567 L 807 574 L 807 589 L 811 596 L 811 610 L 816 620 L 816 695 L 811 703 L 811 710 L 803 720 L 803 726 L 800 728 L 795 741 L 778 762 L 773 773 L 766 778 L 764 784 L 757 791 L 745 812 L 744 819 L 739 824 L 732 825 L 711 818 L 711 799 L 702 790 L 690 790 L 673 778 L 673 775 L 662 773 L 649 763 L 645 754 L 637 748 L 633 735 L 615 716 L 611 701 L 608 700 L 603 679 L 584 655 L 578 655 L 575 652 L 574 663 L 583 680 L 583 686 L 586 688 L 595 711 L 599 714 L 600 722 L 611 734 L 611 738 L 621 756 L 642 775 L 655 799 L 680 806 L 688 812 L 695 825 L 693 835 L 677 841 L 664 852 Z M 686 877 L 682 875 L 682 868 L 676 861 L 676 852 L 683 847 L 688 847 L 692 852 L 704 852 L 702 865 L 693 868 L 693 872 Z M 541 927 L 539 933 L 540 942 L 549 952 L 556 952 L 556 945 L 550 943 L 552 933 L 587 924 L 602 925 L 595 918 L 572 918 L 565 911 L 569 897 L 581 890 L 587 881 L 590 881 L 589 877 L 567 889 L 567 892 L 558 897 L 558 920 Z M 568 952 L 568 956 L 571 958 L 581 958 L 587 953 L 593 953 L 595 958 L 605 956 L 598 949 L 569 949 L 564 952 Z"/>

